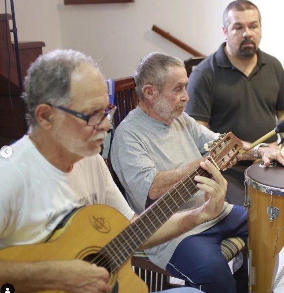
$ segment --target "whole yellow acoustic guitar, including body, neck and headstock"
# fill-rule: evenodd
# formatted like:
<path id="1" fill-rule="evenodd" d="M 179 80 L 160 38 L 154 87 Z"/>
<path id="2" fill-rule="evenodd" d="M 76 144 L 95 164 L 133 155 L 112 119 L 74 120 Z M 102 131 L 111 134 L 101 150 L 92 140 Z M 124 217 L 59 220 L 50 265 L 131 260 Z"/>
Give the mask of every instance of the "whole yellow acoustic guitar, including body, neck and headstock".
<path id="1" fill-rule="evenodd" d="M 220 135 L 205 147 L 209 152 L 206 158 L 223 170 L 240 151 L 242 142 L 230 132 Z M 109 271 L 112 293 L 147 293 L 146 284 L 133 272 L 131 256 L 198 191 L 194 181 L 197 174 L 211 178 L 207 171 L 196 168 L 131 224 L 111 207 L 101 204 L 83 207 L 74 212 L 60 229 L 56 229 L 47 242 L 2 249 L 0 259 L 83 259 Z"/>

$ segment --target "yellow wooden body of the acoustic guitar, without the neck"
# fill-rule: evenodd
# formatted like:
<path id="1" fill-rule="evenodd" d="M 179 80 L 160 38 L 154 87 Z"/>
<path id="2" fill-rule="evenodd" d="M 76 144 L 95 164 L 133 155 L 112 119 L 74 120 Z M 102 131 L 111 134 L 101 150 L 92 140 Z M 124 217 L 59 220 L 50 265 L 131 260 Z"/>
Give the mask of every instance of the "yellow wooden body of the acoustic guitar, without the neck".
<path id="1" fill-rule="evenodd" d="M 118 235 L 130 222 L 115 209 L 95 204 L 84 207 L 72 215 L 60 230 L 56 230 L 48 242 L 12 246 L 0 250 L 0 259 L 11 261 L 71 260 L 94 258 L 98 251 Z M 125 247 L 127 249 L 127 247 Z M 113 249 L 104 255 L 105 262 L 119 259 Z M 96 261 L 94 261 L 96 263 Z M 100 265 L 101 266 L 101 265 Z M 146 284 L 134 273 L 131 258 L 110 275 L 112 293 L 147 293 Z M 54 293 L 62 291 L 42 291 Z"/>

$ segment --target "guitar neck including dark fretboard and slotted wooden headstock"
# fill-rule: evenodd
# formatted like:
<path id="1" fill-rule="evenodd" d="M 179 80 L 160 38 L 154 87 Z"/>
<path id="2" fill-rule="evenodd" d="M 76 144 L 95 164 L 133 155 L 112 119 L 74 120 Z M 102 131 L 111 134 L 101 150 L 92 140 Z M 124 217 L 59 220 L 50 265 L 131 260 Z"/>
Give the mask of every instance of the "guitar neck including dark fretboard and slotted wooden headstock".
<path id="1" fill-rule="evenodd" d="M 206 151 L 209 152 L 208 159 L 220 170 L 228 166 L 241 147 L 241 140 L 236 138 L 232 132 L 220 134 L 214 141 L 205 145 Z M 194 181 L 196 175 L 211 178 L 207 171 L 200 166 L 197 167 L 100 250 L 100 253 L 108 255 L 110 271 L 118 269 L 198 191 Z"/>

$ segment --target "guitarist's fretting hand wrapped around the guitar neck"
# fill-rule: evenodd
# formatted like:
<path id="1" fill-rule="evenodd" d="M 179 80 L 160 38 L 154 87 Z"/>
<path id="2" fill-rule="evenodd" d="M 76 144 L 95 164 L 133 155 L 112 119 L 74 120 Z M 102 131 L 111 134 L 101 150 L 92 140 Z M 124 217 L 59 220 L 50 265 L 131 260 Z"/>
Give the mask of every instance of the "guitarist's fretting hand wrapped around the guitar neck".
<path id="1" fill-rule="evenodd" d="M 212 175 L 212 179 L 197 175 L 194 180 L 197 187 L 205 191 L 206 202 L 201 207 L 203 221 L 214 219 L 222 211 L 227 191 L 227 181 L 220 171 L 209 161 L 201 162 L 200 166 Z"/>

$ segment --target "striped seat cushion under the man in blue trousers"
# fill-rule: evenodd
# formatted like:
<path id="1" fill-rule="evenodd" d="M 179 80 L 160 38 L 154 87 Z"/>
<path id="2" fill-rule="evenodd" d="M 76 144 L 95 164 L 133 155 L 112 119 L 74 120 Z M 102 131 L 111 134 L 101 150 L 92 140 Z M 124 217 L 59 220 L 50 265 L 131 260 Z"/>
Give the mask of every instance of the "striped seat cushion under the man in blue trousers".
<path id="1" fill-rule="evenodd" d="M 226 260 L 229 262 L 245 247 L 244 241 L 240 237 L 231 237 L 222 241 L 221 251 Z M 135 252 L 134 256 L 148 259 L 144 251 Z"/>

